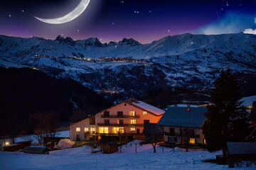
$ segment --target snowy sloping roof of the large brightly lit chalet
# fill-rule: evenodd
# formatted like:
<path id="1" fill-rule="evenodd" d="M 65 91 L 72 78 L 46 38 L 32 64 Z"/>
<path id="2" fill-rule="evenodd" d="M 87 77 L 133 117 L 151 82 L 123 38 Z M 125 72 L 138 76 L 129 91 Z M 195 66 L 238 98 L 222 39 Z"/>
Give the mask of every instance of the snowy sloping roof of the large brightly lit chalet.
<path id="1" fill-rule="evenodd" d="M 141 108 L 144 111 L 148 111 L 149 113 L 153 113 L 154 115 L 163 115 L 165 113 L 165 111 L 161 110 L 160 108 L 156 108 L 155 106 L 151 106 L 148 103 L 144 103 L 143 101 L 138 101 L 137 99 L 134 99 L 134 98 L 125 102 L 137 108 Z"/>

